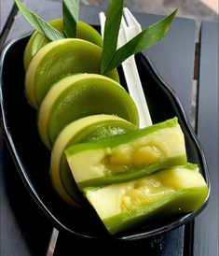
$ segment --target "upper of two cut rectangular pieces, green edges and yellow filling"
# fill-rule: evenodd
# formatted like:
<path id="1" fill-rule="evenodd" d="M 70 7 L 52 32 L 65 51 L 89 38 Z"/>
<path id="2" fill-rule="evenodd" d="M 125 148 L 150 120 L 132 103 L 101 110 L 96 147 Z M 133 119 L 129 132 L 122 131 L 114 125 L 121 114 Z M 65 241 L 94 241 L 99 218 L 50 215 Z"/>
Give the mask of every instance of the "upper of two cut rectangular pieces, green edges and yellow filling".
<path id="1" fill-rule="evenodd" d="M 177 118 L 125 135 L 81 143 L 65 150 L 80 190 L 141 178 L 185 164 L 185 137 Z"/>

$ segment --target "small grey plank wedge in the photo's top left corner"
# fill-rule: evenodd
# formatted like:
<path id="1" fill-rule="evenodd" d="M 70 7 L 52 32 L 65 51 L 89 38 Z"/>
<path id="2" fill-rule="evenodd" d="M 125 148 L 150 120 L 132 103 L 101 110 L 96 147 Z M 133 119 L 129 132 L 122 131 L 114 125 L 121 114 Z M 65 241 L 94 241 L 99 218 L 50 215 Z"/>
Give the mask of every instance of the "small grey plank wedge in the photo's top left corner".
<path id="1" fill-rule="evenodd" d="M 13 5 L 14 5 L 14 0 L 7 0 L 7 1 L 1 0 L 0 1 L 0 10 L 1 10 L 0 35 L 2 34 L 3 29 L 7 23 L 7 19 L 10 15 Z"/>

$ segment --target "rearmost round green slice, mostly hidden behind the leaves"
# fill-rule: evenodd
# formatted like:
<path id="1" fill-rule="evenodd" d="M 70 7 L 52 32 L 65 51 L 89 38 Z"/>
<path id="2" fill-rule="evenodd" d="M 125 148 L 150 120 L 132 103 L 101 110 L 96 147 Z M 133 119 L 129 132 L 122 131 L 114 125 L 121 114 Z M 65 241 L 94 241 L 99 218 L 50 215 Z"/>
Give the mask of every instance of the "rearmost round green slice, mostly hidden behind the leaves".
<path id="1" fill-rule="evenodd" d="M 48 22 L 52 27 L 56 28 L 58 31 L 63 32 L 62 19 L 49 21 Z M 103 46 L 102 36 L 88 23 L 83 21 L 77 21 L 77 38 L 87 40 L 97 46 Z M 23 64 L 24 69 L 27 71 L 27 68 L 32 61 L 35 53 L 40 50 L 43 46 L 47 45 L 50 40 L 43 36 L 41 33 L 35 31 L 34 34 L 30 37 L 27 46 L 24 50 Z"/>

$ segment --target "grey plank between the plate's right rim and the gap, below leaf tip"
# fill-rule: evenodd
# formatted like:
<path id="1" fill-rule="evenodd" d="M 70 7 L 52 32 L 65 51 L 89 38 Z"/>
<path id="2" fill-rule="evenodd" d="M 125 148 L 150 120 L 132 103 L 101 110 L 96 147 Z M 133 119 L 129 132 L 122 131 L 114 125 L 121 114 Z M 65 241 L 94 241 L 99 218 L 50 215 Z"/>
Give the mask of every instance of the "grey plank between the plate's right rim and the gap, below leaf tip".
<path id="1" fill-rule="evenodd" d="M 138 18 L 138 17 L 137 17 Z M 145 25 L 160 17 L 148 15 Z M 141 21 L 140 16 L 140 20 Z M 144 26 L 143 26 L 144 27 Z M 177 18 L 173 21 L 170 33 L 162 42 L 144 52 L 155 64 L 161 78 L 174 90 L 191 121 L 192 92 L 195 58 L 196 21 Z"/>

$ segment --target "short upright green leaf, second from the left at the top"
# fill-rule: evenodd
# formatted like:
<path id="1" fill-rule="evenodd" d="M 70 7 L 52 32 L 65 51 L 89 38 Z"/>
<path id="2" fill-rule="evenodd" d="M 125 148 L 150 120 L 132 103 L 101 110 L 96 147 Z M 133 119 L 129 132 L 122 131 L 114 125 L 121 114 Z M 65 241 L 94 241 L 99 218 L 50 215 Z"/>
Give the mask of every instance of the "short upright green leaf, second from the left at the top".
<path id="1" fill-rule="evenodd" d="M 76 37 L 79 0 L 62 0 L 63 32 L 65 37 Z"/>

